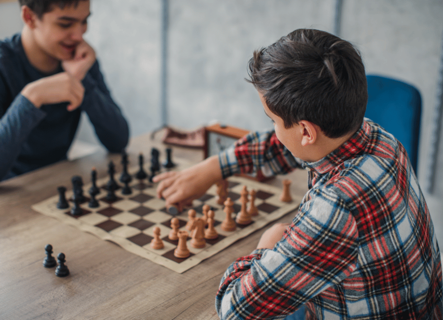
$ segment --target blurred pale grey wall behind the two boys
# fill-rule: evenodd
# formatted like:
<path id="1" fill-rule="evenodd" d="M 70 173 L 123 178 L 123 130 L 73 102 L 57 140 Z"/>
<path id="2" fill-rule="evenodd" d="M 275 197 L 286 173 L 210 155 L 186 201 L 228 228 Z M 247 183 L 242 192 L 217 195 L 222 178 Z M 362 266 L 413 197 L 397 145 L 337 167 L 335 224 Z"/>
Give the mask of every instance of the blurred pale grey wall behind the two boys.
<path id="1" fill-rule="evenodd" d="M 350 41 L 367 73 L 421 93 L 417 175 L 443 239 L 443 0 L 91 0 L 91 12 L 85 38 L 132 136 L 213 121 L 271 128 L 244 80 L 253 50 L 298 28 Z M 0 38 L 21 28 L 18 1 L 0 0 Z M 101 148 L 86 117 L 75 148 Z"/>

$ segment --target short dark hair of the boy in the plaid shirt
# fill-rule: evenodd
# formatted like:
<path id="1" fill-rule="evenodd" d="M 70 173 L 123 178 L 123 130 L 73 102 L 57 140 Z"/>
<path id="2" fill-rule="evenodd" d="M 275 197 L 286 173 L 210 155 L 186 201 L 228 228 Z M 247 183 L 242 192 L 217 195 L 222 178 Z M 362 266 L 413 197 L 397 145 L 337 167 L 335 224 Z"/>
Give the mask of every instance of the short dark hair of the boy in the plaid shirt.
<path id="1" fill-rule="evenodd" d="M 348 41 L 298 29 L 254 51 L 251 82 L 285 128 L 310 121 L 331 138 L 360 128 L 368 102 L 365 68 Z"/>

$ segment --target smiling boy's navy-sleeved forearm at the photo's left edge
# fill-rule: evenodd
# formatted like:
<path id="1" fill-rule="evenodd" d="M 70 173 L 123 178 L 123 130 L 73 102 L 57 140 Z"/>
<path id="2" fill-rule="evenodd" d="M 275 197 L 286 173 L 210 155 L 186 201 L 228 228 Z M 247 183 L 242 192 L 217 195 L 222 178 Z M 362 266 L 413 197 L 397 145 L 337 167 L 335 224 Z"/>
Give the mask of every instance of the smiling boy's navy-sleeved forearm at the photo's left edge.
<path id="1" fill-rule="evenodd" d="M 12 167 L 32 129 L 46 116 L 24 96 L 17 96 L 0 119 L 0 180 Z"/>

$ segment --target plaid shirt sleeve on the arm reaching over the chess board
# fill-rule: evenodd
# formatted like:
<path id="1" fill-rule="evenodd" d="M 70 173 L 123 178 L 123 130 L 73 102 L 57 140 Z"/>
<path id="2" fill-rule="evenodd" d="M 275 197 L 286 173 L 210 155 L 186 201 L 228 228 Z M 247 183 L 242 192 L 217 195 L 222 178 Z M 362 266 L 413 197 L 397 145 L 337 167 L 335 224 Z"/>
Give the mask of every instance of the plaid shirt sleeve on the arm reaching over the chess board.
<path id="1" fill-rule="evenodd" d="M 285 174 L 302 161 L 294 158 L 277 139 L 275 131 L 250 132 L 219 154 L 223 178 L 235 173 L 254 173 L 259 168 L 264 176 Z"/>

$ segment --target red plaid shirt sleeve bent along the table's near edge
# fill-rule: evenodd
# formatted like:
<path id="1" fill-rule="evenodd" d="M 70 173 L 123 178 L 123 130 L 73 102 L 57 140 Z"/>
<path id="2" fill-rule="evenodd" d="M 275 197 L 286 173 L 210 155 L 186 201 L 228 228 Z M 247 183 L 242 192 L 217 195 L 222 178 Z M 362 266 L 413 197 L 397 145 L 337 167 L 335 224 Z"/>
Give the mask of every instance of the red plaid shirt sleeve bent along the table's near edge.
<path id="1" fill-rule="evenodd" d="M 283 319 L 309 299 L 339 284 L 355 269 L 356 221 L 331 194 L 304 203 L 274 249 L 259 249 L 232 263 L 221 279 L 221 320 Z"/>

